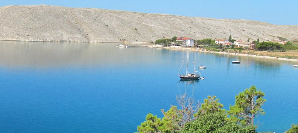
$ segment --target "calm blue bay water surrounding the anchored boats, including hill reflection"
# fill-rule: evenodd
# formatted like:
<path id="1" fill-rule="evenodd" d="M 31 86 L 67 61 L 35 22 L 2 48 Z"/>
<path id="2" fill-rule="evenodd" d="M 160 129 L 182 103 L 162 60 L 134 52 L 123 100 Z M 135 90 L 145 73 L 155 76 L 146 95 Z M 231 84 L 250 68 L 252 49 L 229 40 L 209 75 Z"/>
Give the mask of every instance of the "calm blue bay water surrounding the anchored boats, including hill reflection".
<path id="1" fill-rule="evenodd" d="M 185 85 L 189 96 L 215 95 L 225 109 L 256 85 L 267 99 L 258 131 L 298 123 L 295 63 L 200 53 L 205 80 L 189 83 L 177 76 L 186 51 L 115 45 L 0 41 L 0 132 L 131 133 L 147 113 L 162 117 L 160 109 L 177 105 Z"/>

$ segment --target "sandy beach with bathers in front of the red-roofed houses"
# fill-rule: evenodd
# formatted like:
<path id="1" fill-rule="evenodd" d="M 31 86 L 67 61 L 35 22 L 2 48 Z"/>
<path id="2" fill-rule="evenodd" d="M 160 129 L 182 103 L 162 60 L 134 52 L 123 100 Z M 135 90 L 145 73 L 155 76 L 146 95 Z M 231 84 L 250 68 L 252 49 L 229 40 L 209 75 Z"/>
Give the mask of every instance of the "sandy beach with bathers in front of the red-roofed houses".
<path id="1" fill-rule="evenodd" d="M 228 55 L 236 55 L 236 56 L 250 56 L 250 57 L 256 57 L 256 58 L 264 58 L 264 59 L 271 59 L 271 60 L 280 60 L 280 61 L 286 61 L 286 62 L 298 62 L 297 58 L 281 58 L 281 57 L 271 57 L 271 56 L 266 56 L 266 54 L 263 55 L 255 55 L 255 54 L 248 54 L 251 52 L 258 52 L 258 51 L 251 51 L 251 50 L 243 50 L 243 53 L 235 53 L 234 51 L 230 50 L 229 52 L 217 52 L 217 51 L 209 51 L 209 50 L 203 50 L 202 48 L 194 48 L 194 47 L 163 47 L 164 49 L 169 49 L 169 50 L 191 50 L 191 51 L 197 51 L 197 52 L 206 52 L 206 53 L 215 53 L 215 54 L 228 54 Z M 270 52 L 268 52 L 270 53 Z M 283 53 L 281 53 L 283 54 Z"/>

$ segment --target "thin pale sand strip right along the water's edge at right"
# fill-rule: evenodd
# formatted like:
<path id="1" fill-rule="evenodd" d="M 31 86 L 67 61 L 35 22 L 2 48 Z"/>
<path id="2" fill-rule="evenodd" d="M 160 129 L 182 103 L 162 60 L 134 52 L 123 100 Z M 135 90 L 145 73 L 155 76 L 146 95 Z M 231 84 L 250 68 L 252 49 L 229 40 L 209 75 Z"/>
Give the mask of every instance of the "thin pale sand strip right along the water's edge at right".
<path id="1" fill-rule="evenodd" d="M 256 57 L 256 58 L 264 58 L 264 59 L 271 59 L 271 60 L 279 60 L 279 61 L 289 61 L 289 62 L 298 62 L 298 59 L 287 59 L 287 58 L 276 58 L 276 57 L 270 57 L 270 56 L 262 56 L 262 55 L 254 55 L 254 54 L 236 54 L 236 53 L 228 53 L 228 52 L 216 52 L 216 51 L 207 51 L 202 50 L 199 48 L 188 48 L 188 47 L 179 47 L 179 48 L 173 48 L 173 47 L 163 47 L 164 49 L 169 50 L 190 50 L 194 52 L 205 52 L 205 53 L 215 53 L 215 54 L 227 54 L 227 55 L 236 55 L 236 56 L 246 56 L 246 57 Z"/>

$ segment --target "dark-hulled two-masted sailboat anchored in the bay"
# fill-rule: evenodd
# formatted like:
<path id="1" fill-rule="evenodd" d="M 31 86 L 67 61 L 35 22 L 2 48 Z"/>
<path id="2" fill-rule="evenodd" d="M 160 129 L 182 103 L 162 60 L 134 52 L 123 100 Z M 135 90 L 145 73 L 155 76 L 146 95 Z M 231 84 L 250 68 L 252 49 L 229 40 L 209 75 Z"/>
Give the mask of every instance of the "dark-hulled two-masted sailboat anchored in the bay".
<path id="1" fill-rule="evenodd" d="M 180 73 L 180 70 L 182 68 L 182 65 L 184 63 L 184 60 L 186 59 L 186 72 L 185 72 L 185 75 L 179 75 Z M 181 67 L 180 67 L 180 70 L 178 72 L 178 76 L 181 78 L 181 79 L 200 79 L 200 74 L 196 74 L 196 56 L 195 56 L 195 62 L 194 62 L 194 68 L 193 68 L 193 73 L 188 73 L 188 64 L 189 64 L 189 50 L 187 51 L 187 54 L 185 55 L 184 57 L 184 60 L 181 64 Z"/>

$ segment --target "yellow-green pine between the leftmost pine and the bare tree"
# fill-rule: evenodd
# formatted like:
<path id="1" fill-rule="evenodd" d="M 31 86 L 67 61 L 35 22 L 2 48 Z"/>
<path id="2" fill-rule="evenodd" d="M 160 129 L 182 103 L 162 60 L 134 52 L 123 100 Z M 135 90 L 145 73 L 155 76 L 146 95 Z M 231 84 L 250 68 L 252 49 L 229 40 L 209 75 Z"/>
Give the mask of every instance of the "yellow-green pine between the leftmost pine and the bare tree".
<path id="1" fill-rule="evenodd" d="M 181 109 L 177 109 L 177 106 L 171 106 L 171 108 L 165 112 L 164 109 L 161 109 L 161 112 L 164 114 L 162 118 L 162 128 L 161 132 L 163 133 L 175 133 L 182 129 L 181 127 Z"/>

